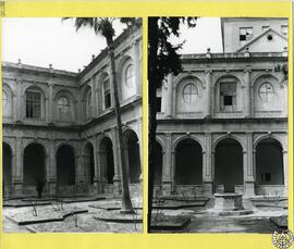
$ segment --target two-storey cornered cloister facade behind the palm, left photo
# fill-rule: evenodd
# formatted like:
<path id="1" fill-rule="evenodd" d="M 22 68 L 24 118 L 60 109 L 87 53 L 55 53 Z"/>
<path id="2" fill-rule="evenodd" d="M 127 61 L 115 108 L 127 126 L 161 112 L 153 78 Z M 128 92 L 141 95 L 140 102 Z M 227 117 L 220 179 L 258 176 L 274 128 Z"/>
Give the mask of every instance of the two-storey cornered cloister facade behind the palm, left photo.
<path id="1" fill-rule="evenodd" d="M 142 25 L 114 40 L 131 187 L 142 180 Z M 2 63 L 4 196 L 114 194 L 121 165 L 110 60 L 78 73 Z M 132 155 L 132 157 L 128 157 Z"/>

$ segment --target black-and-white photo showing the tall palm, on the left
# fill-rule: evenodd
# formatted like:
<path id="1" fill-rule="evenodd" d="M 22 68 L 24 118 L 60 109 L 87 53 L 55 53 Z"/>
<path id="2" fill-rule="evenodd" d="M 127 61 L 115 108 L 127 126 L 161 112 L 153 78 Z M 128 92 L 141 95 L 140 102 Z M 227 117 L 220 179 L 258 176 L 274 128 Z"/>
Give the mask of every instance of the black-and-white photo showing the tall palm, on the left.
<path id="1" fill-rule="evenodd" d="M 143 233 L 142 18 L 2 18 L 3 233 Z"/>

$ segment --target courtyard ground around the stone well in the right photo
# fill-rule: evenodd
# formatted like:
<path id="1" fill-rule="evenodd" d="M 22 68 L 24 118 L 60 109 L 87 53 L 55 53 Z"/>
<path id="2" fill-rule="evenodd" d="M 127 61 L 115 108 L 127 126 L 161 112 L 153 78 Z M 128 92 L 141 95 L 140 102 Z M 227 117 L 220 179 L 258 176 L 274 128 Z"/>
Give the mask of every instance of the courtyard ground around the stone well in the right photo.
<path id="1" fill-rule="evenodd" d="M 174 206 L 171 202 L 171 206 Z M 162 209 L 154 210 L 152 217 L 157 216 L 157 225 L 160 222 L 164 228 L 157 227 L 154 233 L 258 233 L 271 234 L 274 229 L 281 228 L 282 224 L 286 223 L 287 209 L 286 201 L 262 200 L 252 202 L 250 200 L 243 200 L 244 208 L 254 211 L 253 214 L 220 216 L 210 210 L 213 208 L 215 199 L 210 199 L 205 207 L 187 207 L 181 209 Z M 176 221 L 176 219 L 189 219 L 189 223 L 179 229 L 169 229 L 169 224 Z M 279 219 L 279 224 L 272 222 L 270 217 Z M 277 219 L 275 219 L 277 220 Z M 167 221 L 167 222 L 166 222 Z M 179 222 L 179 221 L 176 221 Z M 155 223 L 154 223 L 155 224 Z M 163 226 L 162 226 L 163 227 Z M 167 228 L 168 227 L 168 228 Z"/>

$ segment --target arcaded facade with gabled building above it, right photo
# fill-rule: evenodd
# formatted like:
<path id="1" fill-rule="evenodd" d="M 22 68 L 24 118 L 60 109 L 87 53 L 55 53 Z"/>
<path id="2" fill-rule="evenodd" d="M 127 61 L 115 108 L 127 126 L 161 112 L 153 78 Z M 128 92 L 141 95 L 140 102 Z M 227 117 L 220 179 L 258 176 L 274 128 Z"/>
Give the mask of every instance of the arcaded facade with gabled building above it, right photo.
<path id="1" fill-rule="evenodd" d="M 221 18 L 224 52 L 183 54 L 158 89 L 163 195 L 286 196 L 287 20 Z"/>

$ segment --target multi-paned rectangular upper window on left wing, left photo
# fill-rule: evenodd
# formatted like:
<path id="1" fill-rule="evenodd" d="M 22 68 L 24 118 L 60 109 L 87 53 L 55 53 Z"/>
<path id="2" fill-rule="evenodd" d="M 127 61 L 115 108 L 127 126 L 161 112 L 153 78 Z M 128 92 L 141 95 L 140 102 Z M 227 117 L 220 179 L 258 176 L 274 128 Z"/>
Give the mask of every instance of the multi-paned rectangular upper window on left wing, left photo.
<path id="1" fill-rule="evenodd" d="M 26 92 L 26 117 L 41 117 L 41 95 L 36 91 Z"/>

